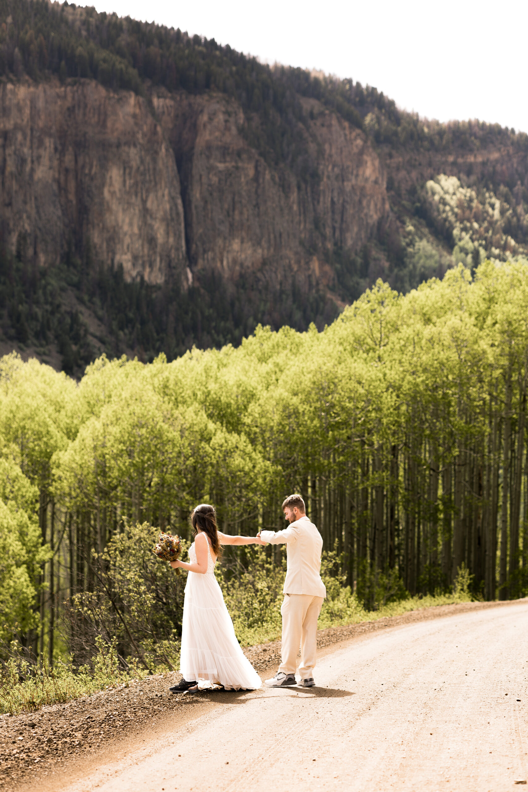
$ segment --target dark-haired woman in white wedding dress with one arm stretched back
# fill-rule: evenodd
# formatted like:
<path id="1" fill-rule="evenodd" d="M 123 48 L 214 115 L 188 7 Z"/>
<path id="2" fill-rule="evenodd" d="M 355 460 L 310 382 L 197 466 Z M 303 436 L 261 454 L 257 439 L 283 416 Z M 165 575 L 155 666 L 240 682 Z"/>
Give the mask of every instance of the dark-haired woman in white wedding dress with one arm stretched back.
<path id="1" fill-rule="evenodd" d="M 189 547 L 190 564 L 171 561 L 173 569 L 188 569 L 181 630 L 180 672 L 184 678 L 169 687 L 172 693 L 196 691 L 209 680 L 226 690 L 260 687 L 260 676 L 242 652 L 227 612 L 222 589 L 215 578 L 215 563 L 222 544 L 264 544 L 258 537 L 228 536 L 216 527 L 215 509 L 205 503 L 191 514 L 195 540 Z"/>

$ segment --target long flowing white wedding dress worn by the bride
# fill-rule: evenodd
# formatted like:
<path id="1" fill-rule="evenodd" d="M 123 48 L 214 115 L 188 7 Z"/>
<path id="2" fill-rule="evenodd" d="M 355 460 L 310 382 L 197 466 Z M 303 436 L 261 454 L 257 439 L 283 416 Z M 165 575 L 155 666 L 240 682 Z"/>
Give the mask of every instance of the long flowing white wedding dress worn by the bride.
<path id="1" fill-rule="evenodd" d="M 260 676 L 234 634 L 222 589 L 215 578 L 216 562 L 209 546 L 207 550 L 207 573 L 189 572 L 185 586 L 180 673 L 188 682 L 196 680 L 199 687 L 208 680 L 227 690 L 256 690 L 262 684 Z M 194 542 L 189 547 L 189 558 L 196 564 Z"/>

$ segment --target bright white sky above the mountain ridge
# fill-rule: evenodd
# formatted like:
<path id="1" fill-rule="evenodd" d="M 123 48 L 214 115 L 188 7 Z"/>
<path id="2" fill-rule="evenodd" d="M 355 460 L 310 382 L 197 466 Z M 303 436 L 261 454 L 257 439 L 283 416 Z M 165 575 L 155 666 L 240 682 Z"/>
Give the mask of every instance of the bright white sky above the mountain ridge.
<path id="1" fill-rule="evenodd" d="M 351 77 L 420 116 L 478 118 L 528 132 L 526 0 L 91 0 L 87 5 L 215 38 L 264 62 Z"/>

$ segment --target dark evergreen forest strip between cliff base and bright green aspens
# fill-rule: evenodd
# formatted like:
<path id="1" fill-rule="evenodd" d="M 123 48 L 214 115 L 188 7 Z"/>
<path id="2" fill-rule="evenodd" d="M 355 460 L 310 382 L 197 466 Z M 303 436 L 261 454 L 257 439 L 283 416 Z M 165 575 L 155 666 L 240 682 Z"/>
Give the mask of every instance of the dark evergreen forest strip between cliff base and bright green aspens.
<path id="1" fill-rule="evenodd" d="M 302 330 L 315 322 L 322 329 L 339 313 L 321 288 L 303 291 L 300 300 L 293 275 L 264 289 L 259 275 L 246 273 L 233 285 L 210 272 L 187 290 L 173 281 L 160 287 L 127 281 L 122 266 L 81 260 L 70 250 L 59 265 L 39 268 L 24 248 L 12 253 L 0 239 L 0 333 L 22 350 L 33 345 L 40 360 L 56 345 L 59 368 L 79 377 L 97 348 L 109 357 L 134 351 L 151 362 L 163 352 L 173 360 L 193 345 L 237 346 L 258 324 Z M 65 293 L 77 309 L 65 305 Z M 82 307 L 97 319 L 95 339 Z"/>

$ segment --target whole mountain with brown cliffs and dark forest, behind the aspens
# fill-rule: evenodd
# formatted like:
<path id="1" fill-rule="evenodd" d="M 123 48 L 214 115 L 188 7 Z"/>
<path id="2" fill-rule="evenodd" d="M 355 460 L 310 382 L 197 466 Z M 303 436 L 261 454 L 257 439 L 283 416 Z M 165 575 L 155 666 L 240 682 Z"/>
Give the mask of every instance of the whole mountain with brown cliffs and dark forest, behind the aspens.
<path id="1" fill-rule="evenodd" d="M 0 0 L 0 133 L 0 348 L 70 373 L 528 243 L 526 135 L 67 2 Z"/>

